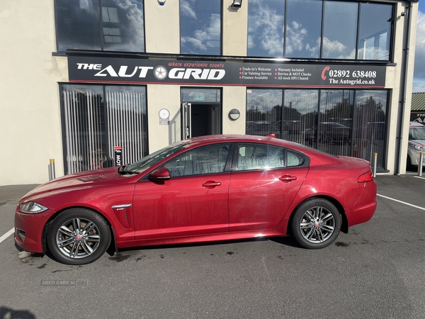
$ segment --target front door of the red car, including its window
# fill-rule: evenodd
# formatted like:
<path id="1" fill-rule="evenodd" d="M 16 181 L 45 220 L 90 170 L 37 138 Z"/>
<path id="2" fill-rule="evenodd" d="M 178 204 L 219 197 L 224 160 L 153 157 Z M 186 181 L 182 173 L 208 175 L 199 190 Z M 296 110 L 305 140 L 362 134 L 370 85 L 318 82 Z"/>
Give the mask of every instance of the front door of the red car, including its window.
<path id="1" fill-rule="evenodd" d="M 230 146 L 188 150 L 164 164 L 168 180 L 137 183 L 135 239 L 227 233 Z"/>

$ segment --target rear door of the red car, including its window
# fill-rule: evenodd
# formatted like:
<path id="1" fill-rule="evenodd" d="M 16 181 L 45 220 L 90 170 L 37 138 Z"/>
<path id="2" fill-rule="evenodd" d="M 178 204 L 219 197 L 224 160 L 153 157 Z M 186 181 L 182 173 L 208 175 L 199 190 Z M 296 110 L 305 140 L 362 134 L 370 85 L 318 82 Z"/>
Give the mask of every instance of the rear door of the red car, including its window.
<path id="1" fill-rule="evenodd" d="M 282 220 L 308 172 L 305 155 L 239 143 L 229 186 L 229 231 L 262 230 Z"/>

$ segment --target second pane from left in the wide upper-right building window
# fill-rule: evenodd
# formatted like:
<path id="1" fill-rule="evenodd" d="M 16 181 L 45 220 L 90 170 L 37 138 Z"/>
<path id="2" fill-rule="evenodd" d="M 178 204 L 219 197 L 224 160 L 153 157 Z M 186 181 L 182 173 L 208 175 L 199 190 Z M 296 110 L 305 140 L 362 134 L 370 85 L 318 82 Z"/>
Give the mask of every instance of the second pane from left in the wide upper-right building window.
<path id="1" fill-rule="evenodd" d="M 285 57 L 320 57 L 322 0 L 287 0 Z"/>

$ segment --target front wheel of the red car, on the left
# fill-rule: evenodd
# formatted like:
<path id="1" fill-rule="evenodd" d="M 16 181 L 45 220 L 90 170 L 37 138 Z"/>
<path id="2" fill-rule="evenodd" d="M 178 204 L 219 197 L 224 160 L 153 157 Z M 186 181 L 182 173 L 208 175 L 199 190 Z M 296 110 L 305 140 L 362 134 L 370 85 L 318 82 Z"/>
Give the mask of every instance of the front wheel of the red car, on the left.
<path id="1" fill-rule="evenodd" d="M 94 211 L 71 208 L 60 213 L 47 233 L 47 245 L 64 264 L 89 264 L 102 256 L 111 244 L 106 220 Z"/>

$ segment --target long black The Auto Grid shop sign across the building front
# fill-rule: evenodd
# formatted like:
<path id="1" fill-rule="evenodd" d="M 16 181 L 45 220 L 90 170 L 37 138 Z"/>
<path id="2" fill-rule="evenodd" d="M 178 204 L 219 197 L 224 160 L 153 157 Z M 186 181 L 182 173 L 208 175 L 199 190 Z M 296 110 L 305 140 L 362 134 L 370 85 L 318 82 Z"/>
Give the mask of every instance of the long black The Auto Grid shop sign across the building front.
<path id="1" fill-rule="evenodd" d="M 69 56 L 68 73 L 69 82 L 384 88 L 386 67 Z"/>

